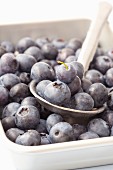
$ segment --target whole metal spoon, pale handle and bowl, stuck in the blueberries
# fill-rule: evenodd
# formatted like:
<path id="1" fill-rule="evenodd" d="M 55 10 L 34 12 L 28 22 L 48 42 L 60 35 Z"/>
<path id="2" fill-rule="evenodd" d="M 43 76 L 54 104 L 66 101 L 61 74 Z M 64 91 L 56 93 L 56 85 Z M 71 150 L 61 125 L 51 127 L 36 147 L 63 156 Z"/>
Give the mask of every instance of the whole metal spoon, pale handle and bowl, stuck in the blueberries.
<path id="1" fill-rule="evenodd" d="M 81 53 L 78 58 L 78 62 L 80 62 L 84 66 L 85 72 L 87 71 L 90 62 L 93 59 L 93 56 L 95 54 L 99 42 L 99 35 L 105 22 L 107 21 L 107 18 L 111 10 L 112 10 L 111 4 L 107 2 L 101 2 L 99 4 L 98 13 L 95 19 L 91 22 L 89 31 L 82 45 Z M 91 111 L 82 111 L 54 105 L 46 101 L 36 93 L 36 84 L 37 82 L 35 80 L 33 80 L 30 83 L 30 91 L 37 98 L 38 102 L 42 106 L 44 106 L 46 109 L 52 112 L 61 114 L 64 118 L 67 119 L 69 119 L 69 117 L 74 118 L 75 122 L 77 123 L 84 124 L 84 122 L 86 123 L 90 117 L 97 115 L 105 110 L 105 106 L 98 109 L 94 108 Z"/>

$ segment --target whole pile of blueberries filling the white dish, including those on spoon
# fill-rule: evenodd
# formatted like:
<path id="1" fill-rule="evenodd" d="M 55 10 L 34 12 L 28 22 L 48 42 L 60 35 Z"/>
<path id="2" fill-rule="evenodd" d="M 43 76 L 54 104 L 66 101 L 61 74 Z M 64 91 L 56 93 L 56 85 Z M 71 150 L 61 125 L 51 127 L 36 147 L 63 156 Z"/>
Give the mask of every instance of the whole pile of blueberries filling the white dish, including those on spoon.
<path id="1" fill-rule="evenodd" d="M 0 43 L 0 117 L 8 139 L 36 146 L 113 136 L 113 51 L 96 50 L 89 70 L 77 62 L 82 41 L 30 37 Z M 77 110 L 106 110 L 87 125 L 69 123 L 31 94 Z"/>

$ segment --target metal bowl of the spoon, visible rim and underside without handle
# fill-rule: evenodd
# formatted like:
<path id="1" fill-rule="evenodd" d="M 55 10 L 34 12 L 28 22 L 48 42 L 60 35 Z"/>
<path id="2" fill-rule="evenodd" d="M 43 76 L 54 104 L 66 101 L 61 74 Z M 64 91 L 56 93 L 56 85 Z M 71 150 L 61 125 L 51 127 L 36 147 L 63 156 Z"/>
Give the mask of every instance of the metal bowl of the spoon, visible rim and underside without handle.
<path id="1" fill-rule="evenodd" d="M 61 107 L 55 104 L 48 102 L 47 100 L 43 99 L 36 93 L 36 85 L 37 81 L 32 80 L 30 83 L 30 91 L 31 93 L 37 98 L 38 102 L 46 109 L 50 110 L 54 113 L 61 114 L 65 119 L 68 117 L 72 117 L 75 119 L 75 122 L 84 123 L 86 119 L 88 120 L 90 117 L 95 116 L 105 110 L 105 105 L 101 108 L 93 108 L 91 111 L 83 111 L 83 110 L 75 110 L 71 108 Z M 82 119 L 81 119 L 82 118 Z"/>

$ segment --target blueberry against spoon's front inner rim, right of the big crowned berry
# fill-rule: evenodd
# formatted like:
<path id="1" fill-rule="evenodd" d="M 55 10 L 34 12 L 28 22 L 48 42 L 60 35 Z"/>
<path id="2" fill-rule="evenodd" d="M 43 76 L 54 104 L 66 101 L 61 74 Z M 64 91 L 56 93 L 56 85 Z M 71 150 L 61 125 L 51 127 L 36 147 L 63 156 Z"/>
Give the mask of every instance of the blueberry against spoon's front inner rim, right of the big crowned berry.
<path id="1" fill-rule="evenodd" d="M 93 98 L 85 93 L 77 93 L 75 94 L 75 107 L 77 110 L 92 110 L 94 107 L 94 100 Z"/>

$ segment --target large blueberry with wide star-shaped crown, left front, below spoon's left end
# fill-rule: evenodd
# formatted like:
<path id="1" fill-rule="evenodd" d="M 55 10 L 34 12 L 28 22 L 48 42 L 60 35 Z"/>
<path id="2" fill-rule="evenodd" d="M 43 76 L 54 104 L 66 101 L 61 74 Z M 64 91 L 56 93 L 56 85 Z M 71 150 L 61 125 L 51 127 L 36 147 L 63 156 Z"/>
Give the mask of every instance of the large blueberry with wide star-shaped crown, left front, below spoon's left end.
<path id="1" fill-rule="evenodd" d="M 35 129 L 39 122 L 39 110 L 32 105 L 21 106 L 15 114 L 15 123 L 20 129 Z"/>

